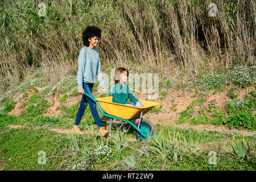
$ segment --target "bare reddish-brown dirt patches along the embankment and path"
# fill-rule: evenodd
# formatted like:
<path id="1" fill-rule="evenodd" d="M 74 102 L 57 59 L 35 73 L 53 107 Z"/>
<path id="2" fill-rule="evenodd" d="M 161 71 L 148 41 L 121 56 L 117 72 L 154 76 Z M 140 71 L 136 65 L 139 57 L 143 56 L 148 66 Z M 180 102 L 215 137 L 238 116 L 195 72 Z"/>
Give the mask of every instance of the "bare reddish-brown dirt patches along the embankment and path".
<path id="1" fill-rule="evenodd" d="M 36 88 L 39 90 L 42 90 L 42 88 Z M 238 98 L 243 98 L 246 96 L 248 92 L 251 90 L 255 90 L 253 87 L 248 87 L 246 89 L 237 89 L 234 91 L 234 93 L 238 94 Z M 205 96 L 206 102 L 204 102 L 200 106 L 195 106 L 195 113 L 197 113 L 197 110 L 207 107 L 210 101 L 216 100 L 216 106 L 217 109 L 224 109 L 225 102 L 229 100 L 228 96 L 226 96 L 226 93 L 228 90 L 225 90 L 224 92 L 218 92 L 216 94 L 211 94 L 210 96 Z M 9 114 L 13 115 L 19 115 L 22 113 L 22 110 L 26 109 L 24 107 L 23 109 L 20 107 L 23 105 L 24 101 L 29 99 L 32 94 L 34 94 L 35 91 L 32 89 L 27 89 L 26 92 L 24 93 L 17 93 L 14 97 L 14 101 L 16 101 L 16 105 L 12 111 L 10 111 Z M 24 94 L 26 94 L 26 97 L 23 97 Z M 68 97 L 65 102 L 60 103 L 59 99 L 63 96 L 60 95 L 59 97 L 56 96 L 57 94 L 52 93 L 48 98 L 46 98 L 49 103 L 50 107 L 47 110 L 47 113 L 44 114 L 46 116 L 55 116 L 59 115 L 60 109 L 59 107 L 64 104 L 65 106 L 69 107 L 74 104 L 77 104 L 81 100 L 81 96 L 77 97 Z M 152 113 L 151 114 L 151 122 L 156 124 L 162 124 L 162 125 L 172 125 L 176 127 L 191 127 L 196 130 L 206 130 L 206 131 L 222 131 L 222 132 L 229 132 L 229 129 L 226 129 L 224 126 L 214 126 L 214 125 L 195 125 L 191 126 L 189 122 L 181 123 L 181 124 L 176 124 L 175 121 L 179 118 L 179 113 L 182 110 L 185 110 L 187 106 L 191 104 L 193 100 L 196 100 L 198 97 L 191 97 L 192 92 L 188 92 L 188 90 L 170 90 L 167 93 L 167 96 L 163 98 L 163 100 L 155 100 L 157 102 L 160 102 L 162 104 L 161 112 L 158 114 Z M 135 97 L 141 100 L 146 100 L 147 94 L 135 94 Z M 170 108 L 176 108 L 176 110 L 172 110 Z M 148 112 L 145 114 L 146 117 L 149 116 Z M 53 131 L 57 131 L 59 133 L 67 133 L 67 131 L 61 130 L 61 129 L 52 129 Z M 237 130 L 238 131 L 238 130 Z M 238 131 L 242 134 L 247 134 L 247 135 L 256 135 L 256 132 L 249 132 L 249 131 Z"/>

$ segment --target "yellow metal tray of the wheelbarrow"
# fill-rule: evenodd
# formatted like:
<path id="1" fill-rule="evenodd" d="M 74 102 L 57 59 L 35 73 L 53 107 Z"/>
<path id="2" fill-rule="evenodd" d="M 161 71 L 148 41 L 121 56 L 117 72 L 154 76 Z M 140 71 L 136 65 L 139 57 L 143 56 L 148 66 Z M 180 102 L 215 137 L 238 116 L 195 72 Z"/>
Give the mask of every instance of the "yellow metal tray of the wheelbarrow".
<path id="1" fill-rule="evenodd" d="M 98 104 L 100 104 L 101 108 L 106 113 L 127 120 L 139 118 L 142 110 L 143 114 L 146 114 L 149 110 L 152 109 L 152 107 L 160 105 L 159 102 L 139 100 L 143 102 L 143 107 L 134 107 L 112 102 L 112 97 L 113 96 L 101 97 L 96 98 L 95 100 L 98 101 Z"/>

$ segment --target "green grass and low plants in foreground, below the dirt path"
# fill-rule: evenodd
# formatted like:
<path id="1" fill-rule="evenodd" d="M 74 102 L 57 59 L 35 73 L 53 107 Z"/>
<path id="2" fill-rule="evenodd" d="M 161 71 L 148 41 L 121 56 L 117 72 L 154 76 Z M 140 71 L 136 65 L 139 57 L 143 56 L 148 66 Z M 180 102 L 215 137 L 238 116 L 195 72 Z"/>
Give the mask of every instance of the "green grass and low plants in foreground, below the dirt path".
<path id="1" fill-rule="evenodd" d="M 160 140 L 155 138 L 155 142 L 162 141 L 159 144 L 154 144 L 153 141 L 125 142 L 129 135 L 123 135 L 122 132 L 116 135 L 118 140 L 109 140 L 95 134 L 64 135 L 46 129 L 5 129 L 1 130 L 0 163 L 3 170 L 255 169 L 256 161 L 254 154 L 251 153 L 255 152 L 254 147 L 251 148 L 251 152 L 246 152 L 248 158 L 242 160 L 237 160 L 232 153 L 223 151 L 224 146 L 216 147 L 223 139 L 232 141 L 232 134 L 163 125 L 156 126 L 156 129 L 162 136 Z M 253 144 L 251 142 L 255 142 L 253 137 L 245 138 L 249 140 L 249 146 Z M 242 137 L 238 135 L 236 139 Z M 176 146 L 176 157 L 173 158 L 171 151 L 174 148 L 170 148 L 172 145 L 168 147 L 167 143 L 175 144 L 175 141 L 180 141 L 182 145 L 179 150 Z M 208 142 L 216 144 L 212 148 L 204 149 L 203 146 Z M 159 148 L 160 146 L 167 148 L 164 150 Z M 203 150 L 192 152 L 189 148 L 193 146 L 202 146 Z M 43 158 L 43 155 L 38 155 L 39 151 L 45 152 L 46 164 L 38 163 L 38 160 Z M 210 151 L 216 152 L 216 164 L 209 163 Z"/>

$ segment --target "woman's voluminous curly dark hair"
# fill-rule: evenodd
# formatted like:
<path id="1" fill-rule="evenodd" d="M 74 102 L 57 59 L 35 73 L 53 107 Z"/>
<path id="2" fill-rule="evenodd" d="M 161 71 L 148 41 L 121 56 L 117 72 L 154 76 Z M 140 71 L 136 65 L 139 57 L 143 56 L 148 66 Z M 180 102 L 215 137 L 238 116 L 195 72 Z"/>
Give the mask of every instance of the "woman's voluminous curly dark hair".
<path id="1" fill-rule="evenodd" d="M 94 36 L 101 38 L 101 29 L 96 26 L 86 27 L 84 32 L 82 32 L 82 43 L 84 44 L 84 46 L 88 47 L 90 44 L 88 39 L 93 38 Z"/>

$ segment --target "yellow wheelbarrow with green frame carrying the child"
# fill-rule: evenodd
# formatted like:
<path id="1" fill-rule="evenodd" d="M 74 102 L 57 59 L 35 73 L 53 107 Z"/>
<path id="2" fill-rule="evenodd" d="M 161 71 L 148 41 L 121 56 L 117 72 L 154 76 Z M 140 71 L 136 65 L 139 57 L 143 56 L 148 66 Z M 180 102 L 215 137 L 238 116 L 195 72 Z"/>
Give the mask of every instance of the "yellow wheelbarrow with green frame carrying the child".
<path id="1" fill-rule="evenodd" d="M 106 90 L 106 92 L 108 92 L 108 90 Z M 130 126 L 133 126 L 135 129 L 136 138 L 141 141 L 147 140 L 147 138 L 154 137 L 154 135 L 156 134 L 156 129 L 153 123 L 150 122 L 150 118 L 151 118 L 152 108 L 157 105 L 160 105 L 159 102 L 139 100 L 143 102 L 143 107 L 134 107 L 134 106 L 123 105 L 123 104 L 112 102 L 112 93 L 110 92 L 108 93 L 110 94 L 109 97 L 101 97 L 101 98 L 94 99 L 88 93 L 84 92 L 84 94 L 87 97 L 89 97 L 91 100 L 96 102 L 96 105 L 100 109 L 101 113 L 106 117 L 110 118 L 109 137 L 111 137 L 111 125 L 112 125 L 113 119 L 118 119 L 123 121 L 119 129 L 121 129 L 124 123 L 129 123 Z M 102 109 L 105 111 L 105 113 Z M 142 115 L 146 114 L 148 111 L 150 111 L 149 119 L 147 120 L 142 118 Z M 139 121 L 134 125 L 133 121 L 137 118 L 139 118 Z"/>

